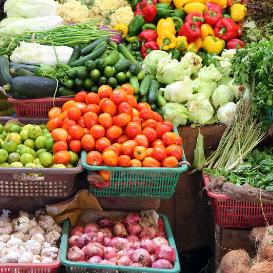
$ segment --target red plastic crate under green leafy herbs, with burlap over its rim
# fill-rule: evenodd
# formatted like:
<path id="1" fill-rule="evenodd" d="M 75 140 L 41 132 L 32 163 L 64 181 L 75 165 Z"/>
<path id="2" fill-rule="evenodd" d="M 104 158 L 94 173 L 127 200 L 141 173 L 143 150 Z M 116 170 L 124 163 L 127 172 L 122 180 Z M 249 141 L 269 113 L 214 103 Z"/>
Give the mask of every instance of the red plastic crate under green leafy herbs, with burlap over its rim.
<path id="1" fill-rule="evenodd" d="M 207 187 L 209 178 L 204 177 Z M 250 201 L 237 201 L 224 194 L 214 194 L 207 190 L 211 209 L 219 227 L 251 228 L 266 225 L 260 203 Z M 273 224 L 273 204 L 263 204 L 265 217 L 268 223 Z"/>

